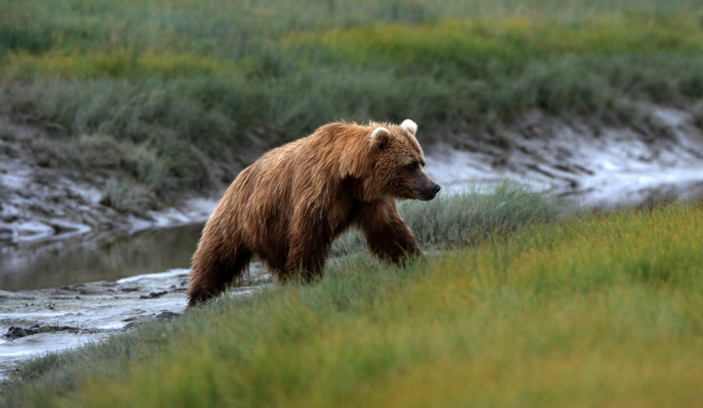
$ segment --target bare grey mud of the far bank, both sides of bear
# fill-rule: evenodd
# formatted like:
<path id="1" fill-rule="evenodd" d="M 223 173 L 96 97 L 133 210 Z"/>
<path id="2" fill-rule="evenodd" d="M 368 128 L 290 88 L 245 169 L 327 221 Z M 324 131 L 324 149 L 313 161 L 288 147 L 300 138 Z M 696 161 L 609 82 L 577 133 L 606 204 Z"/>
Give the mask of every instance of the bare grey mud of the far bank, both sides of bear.
<path id="1" fill-rule="evenodd" d="M 490 134 L 438 136 L 453 142 L 424 146 L 426 170 L 444 191 L 513 179 L 604 209 L 699 198 L 703 132 L 695 115 L 656 105 L 647 110 L 647 127 L 593 125 L 533 110 L 503 129 L 503 145 Z M 41 132 L 23 129 L 25 141 Z M 150 196 L 139 204 L 130 196 L 129 205 L 115 208 L 111 189 L 124 172 L 54 170 L 41 160 L 32 144 L 0 139 L 0 245 L 205 222 L 226 187 L 209 195 L 186 190 L 171 203 Z"/>

